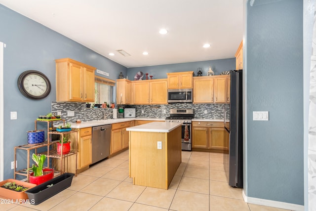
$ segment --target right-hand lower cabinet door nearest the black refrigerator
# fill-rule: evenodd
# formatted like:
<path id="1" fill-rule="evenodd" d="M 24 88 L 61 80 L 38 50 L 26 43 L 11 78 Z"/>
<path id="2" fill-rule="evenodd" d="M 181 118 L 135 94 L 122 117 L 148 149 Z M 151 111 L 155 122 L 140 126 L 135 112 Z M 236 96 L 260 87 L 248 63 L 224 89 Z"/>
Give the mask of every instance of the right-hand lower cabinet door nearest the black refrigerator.
<path id="1" fill-rule="evenodd" d="M 228 150 L 227 140 L 224 139 L 224 128 L 209 128 L 210 149 Z"/>

